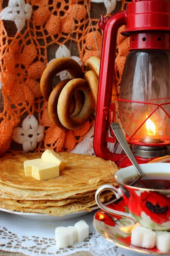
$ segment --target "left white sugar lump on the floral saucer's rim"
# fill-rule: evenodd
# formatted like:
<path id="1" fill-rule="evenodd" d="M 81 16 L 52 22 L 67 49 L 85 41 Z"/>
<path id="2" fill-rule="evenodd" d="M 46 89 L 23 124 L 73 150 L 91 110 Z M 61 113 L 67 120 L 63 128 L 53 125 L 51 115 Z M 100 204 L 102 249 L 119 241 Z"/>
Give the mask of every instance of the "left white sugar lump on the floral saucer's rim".
<path id="1" fill-rule="evenodd" d="M 153 248 L 156 243 L 156 233 L 146 227 L 136 226 L 132 230 L 131 244 L 137 247 Z"/>

